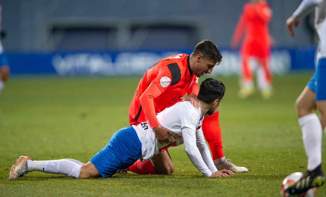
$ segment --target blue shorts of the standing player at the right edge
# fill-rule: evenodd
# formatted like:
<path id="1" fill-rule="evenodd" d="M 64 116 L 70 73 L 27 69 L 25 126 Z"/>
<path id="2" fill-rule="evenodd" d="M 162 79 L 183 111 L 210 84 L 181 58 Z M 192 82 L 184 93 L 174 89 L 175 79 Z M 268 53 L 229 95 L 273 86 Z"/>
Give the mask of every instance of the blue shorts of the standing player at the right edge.
<path id="1" fill-rule="evenodd" d="M 326 100 L 326 58 L 319 59 L 316 72 L 307 86 L 315 92 L 316 101 Z"/>

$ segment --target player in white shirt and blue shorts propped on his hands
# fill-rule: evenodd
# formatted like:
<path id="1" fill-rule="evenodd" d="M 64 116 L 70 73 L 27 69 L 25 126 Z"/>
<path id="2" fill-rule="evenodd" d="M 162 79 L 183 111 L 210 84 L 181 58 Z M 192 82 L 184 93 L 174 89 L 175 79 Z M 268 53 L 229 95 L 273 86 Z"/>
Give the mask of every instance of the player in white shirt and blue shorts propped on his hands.
<path id="1" fill-rule="evenodd" d="M 218 171 L 205 143 L 200 129 L 204 115 L 211 115 L 223 100 L 224 84 L 208 78 L 200 85 L 198 100 L 200 107 L 195 109 L 190 101 L 179 102 L 157 115 L 162 126 L 173 134 L 170 144 L 159 144 L 148 122 L 138 126 L 125 127 L 111 137 L 109 143 L 83 164 L 73 159 L 35 161 L 21 156 L 12 166 L 9 179 L 15 180 L 31 171 L 63 174 L 75 178 L 96 178 L 113 176 L 117 170 L 126 169 L 138 159 L 147 161 L 163 148 L 185 145 L 185 151 L 196 168 L 207 177 L 223 177 L 233 174 L 230 170 Z"/>

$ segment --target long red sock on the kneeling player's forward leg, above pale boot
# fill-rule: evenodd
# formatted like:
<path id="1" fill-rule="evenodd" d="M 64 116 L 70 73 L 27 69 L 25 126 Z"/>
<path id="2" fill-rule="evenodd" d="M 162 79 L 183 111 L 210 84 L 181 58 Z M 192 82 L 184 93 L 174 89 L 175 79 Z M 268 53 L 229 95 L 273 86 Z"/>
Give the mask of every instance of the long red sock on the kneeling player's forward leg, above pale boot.
<path id="1" fill-rule="evenodd" d="M 213 160 L 224 157 L 218 114 L 217 111 L 210 116 L 206 116 L 201 124 L 201 130 L 211 149 Z"/>

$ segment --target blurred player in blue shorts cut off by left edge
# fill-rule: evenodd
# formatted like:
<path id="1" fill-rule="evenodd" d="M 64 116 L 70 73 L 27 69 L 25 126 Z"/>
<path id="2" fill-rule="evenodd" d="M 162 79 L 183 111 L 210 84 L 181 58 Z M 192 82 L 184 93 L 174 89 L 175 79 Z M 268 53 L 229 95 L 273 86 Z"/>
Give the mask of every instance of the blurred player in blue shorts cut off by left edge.
<path id="1" fill-rule="evenodd" d="M 6 36 L 6 33 L 1 28 L 1 19 L 2 19 L 2 6 L 0 5 L 0 35 L 1 38 Z M 3 49 L 1 39 L 0 39 L 0 93 L 5 86 L 5 81 L 9 77 L 9 64 L 7 55 Z"/>

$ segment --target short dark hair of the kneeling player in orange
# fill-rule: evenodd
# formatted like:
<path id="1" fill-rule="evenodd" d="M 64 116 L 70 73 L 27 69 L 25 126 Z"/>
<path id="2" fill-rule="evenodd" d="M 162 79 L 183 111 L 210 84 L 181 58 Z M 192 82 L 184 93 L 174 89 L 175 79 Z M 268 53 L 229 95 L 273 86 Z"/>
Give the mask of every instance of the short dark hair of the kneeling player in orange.
<path id="1" fill-rule="evenodd" d="M 203 58 L 206 60 L 215 60 L 219 65 L 222 61 L 222 55 L 217 49 L 217 46 L 210 40 L 202 40 L 198 43 L 194 49 L 193 54 L 195 56 L 202 54 Z"/>

